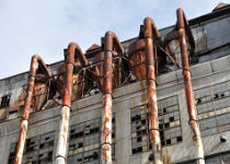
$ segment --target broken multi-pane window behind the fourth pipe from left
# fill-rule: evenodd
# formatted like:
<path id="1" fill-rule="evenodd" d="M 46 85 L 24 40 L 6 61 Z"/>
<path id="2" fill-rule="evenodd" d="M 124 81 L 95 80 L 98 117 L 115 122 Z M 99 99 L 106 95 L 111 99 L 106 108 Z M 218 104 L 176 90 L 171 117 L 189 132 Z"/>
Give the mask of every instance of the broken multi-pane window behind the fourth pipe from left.
<path id="1" fill-rule="evenodd" d="M 177 96 L 158 101 L 158 108 L 161 144 L 182 141 Z M 145 104 L 131 108 L 131 153 L 146 152 L 150 149 L 148 107 Z"/>

